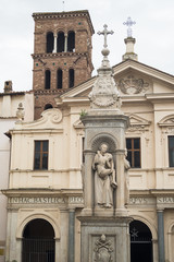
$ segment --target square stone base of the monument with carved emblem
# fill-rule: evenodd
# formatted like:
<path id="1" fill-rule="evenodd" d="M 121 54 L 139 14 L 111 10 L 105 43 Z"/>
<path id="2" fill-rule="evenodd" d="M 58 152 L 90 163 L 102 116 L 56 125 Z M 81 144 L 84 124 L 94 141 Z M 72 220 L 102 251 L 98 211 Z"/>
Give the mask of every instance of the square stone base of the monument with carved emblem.
<path id="1" fill-rule="evenodd" d="M 80 262 L 129 262 L 130 217 L 78 217 L 80 221 Z"/>

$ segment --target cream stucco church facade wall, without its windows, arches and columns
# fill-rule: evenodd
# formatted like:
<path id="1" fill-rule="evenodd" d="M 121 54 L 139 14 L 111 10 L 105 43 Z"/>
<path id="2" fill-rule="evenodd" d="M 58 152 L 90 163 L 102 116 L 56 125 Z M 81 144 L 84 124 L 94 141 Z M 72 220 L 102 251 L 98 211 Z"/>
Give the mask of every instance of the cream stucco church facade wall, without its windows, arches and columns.
<path id="1" fill-rule="evenodd" d="M 130 200 L 126 207 L 134 219 L 150 229 L 153 262 L 159 261 L 158 212 L 162 212 L 165 260 L 172 262 L 174 167 L 169 166 L 169 136 L 174 135 L 174 76 L 133 60 L 113 70 L 122 110 L 130 121 L 126 138 L 140 141 L 140 167 L 129 169 Z M 3 181 L 10 209 L 7 261 L 22 261 L 24 228 L 36 218 L 48 221 L 54 229 L 55 261 L 67 261 L 70 213 L 73 211 L 76 217 L 83 207 L 85 134 L 79 115 L 89 108 L 94 82 L 95 78 L 60 96 L 55 99 L 58 108 L 45 110 L 40 119 L 4 127 L 11 129 L 12 136 L 9 189 L 7 178 Z M 49 141 L 47 170 L 34 169 L 35 141 Z M 74 228 L 75 261 L 79 262 L 80 229 L 76 218 Z"/>

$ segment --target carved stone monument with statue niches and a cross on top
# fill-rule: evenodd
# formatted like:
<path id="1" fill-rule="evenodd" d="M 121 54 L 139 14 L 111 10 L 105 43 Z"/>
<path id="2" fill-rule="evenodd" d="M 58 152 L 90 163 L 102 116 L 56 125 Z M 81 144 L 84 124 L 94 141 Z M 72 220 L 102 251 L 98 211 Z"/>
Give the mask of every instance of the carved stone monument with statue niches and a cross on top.
<path id="1" fill-rule="evenodd" d="M 82 262 L 129 262 L 129 223 L 126 210 L 128 179 L 125 130 L 129 119 L 109 64 L 104 31 L 103 60 L 89 94 L 90 110 L 80 117 L 85 127 L 83 168 L 84 210 L 80 221 Z"/>

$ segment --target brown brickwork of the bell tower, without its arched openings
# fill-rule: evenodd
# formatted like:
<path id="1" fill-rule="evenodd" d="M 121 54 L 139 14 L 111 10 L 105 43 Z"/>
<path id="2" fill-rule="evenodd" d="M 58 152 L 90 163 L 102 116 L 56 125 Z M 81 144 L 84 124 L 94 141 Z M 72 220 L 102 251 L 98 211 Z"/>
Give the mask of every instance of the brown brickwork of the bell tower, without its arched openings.
<path id="1" fill-rule="evenodd" d="M 69 70 L 74 69 L 74 86 L 91 78 L 91 36 L 94 34 L 92 24 L 88 11 L 74 11 L 61 13 L 35 13 L 35 47 L 34 47 L 34 74 L 33 88 L 35 91 L 35 119 L 38 118 L 48 99 L 53 106 L 54 93 L 57 90 L 57 71 L 63 72 L 62 88 L 69 88 Z M 75 33 L 75 51 L 73 52 L 51 52 L 47 53 L 47 33 L 58 32 L 67 34 Z M 51 72 L 51 85 L 45 91 L 45 72 Z M 57 96 L 60 92 L 57 93 Z M 36 98 L 36 96 L 39 98 Z M 48 103 L 47 103 L 48 104 Z"/>

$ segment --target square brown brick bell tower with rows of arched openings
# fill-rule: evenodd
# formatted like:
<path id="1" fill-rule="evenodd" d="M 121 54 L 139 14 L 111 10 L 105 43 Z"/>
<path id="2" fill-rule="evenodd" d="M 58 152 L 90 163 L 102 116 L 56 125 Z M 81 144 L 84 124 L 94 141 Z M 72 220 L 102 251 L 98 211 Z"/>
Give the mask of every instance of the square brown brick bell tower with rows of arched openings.
<path id="1" fill-rule="evenodd" d="M 88 11 L 34 13 L 33 90 L 35 119 L 57 107 L 54 97 L 91 78 L 91 36 Z"/>

